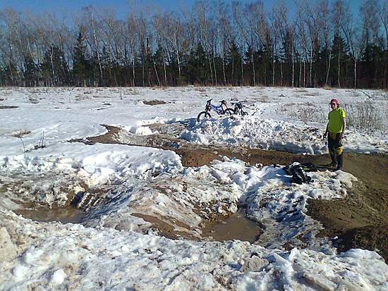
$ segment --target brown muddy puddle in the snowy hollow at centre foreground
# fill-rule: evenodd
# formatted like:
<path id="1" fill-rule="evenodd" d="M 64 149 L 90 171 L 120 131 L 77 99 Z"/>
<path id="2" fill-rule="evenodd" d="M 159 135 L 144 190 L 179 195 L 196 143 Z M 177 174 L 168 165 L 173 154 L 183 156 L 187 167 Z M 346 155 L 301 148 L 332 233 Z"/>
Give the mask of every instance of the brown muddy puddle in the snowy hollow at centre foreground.
<path id="1" fill-rule="evenodd" d="M 224 221 L 215 225 L 209 224 L 202 228 L 202 237 L 221 242 L 226 240 L 244 240 L 253 243 L 260 237 L 261 233 L 262 228 L 260 228 L 260 225 L 246 218 L 243 209 L 239 209 Z"/>

